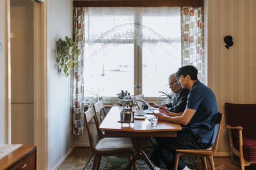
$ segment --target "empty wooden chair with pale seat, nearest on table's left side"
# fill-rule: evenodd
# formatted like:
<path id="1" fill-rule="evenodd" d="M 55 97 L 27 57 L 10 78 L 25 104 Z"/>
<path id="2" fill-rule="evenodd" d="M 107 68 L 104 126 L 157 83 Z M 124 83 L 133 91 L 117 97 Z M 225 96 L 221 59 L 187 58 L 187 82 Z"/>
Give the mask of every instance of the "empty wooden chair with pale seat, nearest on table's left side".
<path id="1" fill-rule="evenodd" d="M 99 139 L 97 145 L 93 144 L 92 133 L 90 131 L 89 122 L 96 117 L 93 108 L 84 112 L 84 120 L 90 141 L 90 147 L 94 155 L 92 169 L 99 169 L 100 159 L 102 156 L 108 155 L 127 155 L 129 161 L 132 160 L 132 141 L 130 138 L 102 138 Z"/>

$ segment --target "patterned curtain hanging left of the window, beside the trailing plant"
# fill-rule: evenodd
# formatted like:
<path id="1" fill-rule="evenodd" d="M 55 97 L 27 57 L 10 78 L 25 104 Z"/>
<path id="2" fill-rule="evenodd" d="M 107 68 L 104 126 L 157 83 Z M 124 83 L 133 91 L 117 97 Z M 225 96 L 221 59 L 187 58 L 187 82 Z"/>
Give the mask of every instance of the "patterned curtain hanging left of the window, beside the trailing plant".
<path id="1" fill-rule="evenodd" d="M 73 10 L 73 40 L 78 48 L 77 68 L 74 69 L 72 78 L 73 83 L 73 134 L 83 134 L 84 117 L 83 117 L 83 53 L 84 53 L 84 8 L 76 7 Z"/>

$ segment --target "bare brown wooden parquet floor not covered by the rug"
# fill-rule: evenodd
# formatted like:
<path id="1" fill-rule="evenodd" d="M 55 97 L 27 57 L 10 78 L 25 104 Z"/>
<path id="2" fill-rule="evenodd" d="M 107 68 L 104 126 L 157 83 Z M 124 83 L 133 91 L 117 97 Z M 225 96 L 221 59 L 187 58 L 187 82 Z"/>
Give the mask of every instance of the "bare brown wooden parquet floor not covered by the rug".
<path id="1" fill-rule="evenodd" d="M 59 170 L 71 170 L 71 169 L 83 169 L 86 165 L 90 157 L 92 156 L 92 152 L 90 148 L 82 148 L 78 147 L 70 154 L 70 156 L 61 164 L 58 168 Z M 200 159 L 195 159 L 196 164 L 199 169 L 202 169 Z M 209 163 L 207 163 L 209 166 Z M 240 167 L 234 164 L 231 164 L 230 157 L 214 157 L 214 164 L 216 170 L 239 170 Z M 209 167 L 209 169 L 211 169 Z M 256 164 L 252 164 L 251 166 L 245 167 L 246 170 L 255 170 Z"/>

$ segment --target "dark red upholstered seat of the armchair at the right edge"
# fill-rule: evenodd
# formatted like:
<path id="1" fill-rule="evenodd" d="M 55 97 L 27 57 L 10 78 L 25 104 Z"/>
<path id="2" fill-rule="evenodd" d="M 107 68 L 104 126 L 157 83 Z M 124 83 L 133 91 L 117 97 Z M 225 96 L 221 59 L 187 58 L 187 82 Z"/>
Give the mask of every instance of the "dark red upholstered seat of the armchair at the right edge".
<path id="1" fill-rule="evenodd" d="M 234 147 L 239 150 L 239 139 L 234 143 Z M 249 162 L 256 162 L 256 138 L 243 139 L 244 159 Z"/>

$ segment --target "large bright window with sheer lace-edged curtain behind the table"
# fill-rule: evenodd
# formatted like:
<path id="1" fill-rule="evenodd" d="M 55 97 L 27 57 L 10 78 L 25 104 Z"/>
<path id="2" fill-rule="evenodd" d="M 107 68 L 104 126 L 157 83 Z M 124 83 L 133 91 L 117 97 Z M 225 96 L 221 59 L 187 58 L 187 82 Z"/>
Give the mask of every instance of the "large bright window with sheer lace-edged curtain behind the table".
<path id="1" fill-rule="evenodd" d="M 180 7 L 86 8 L 84 96 L 159 97 L 181 66 Z"/>

